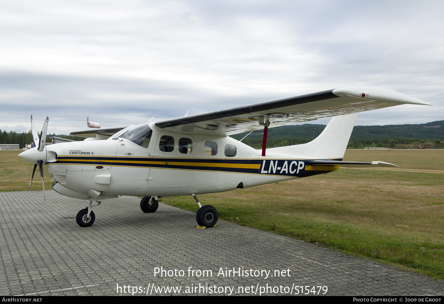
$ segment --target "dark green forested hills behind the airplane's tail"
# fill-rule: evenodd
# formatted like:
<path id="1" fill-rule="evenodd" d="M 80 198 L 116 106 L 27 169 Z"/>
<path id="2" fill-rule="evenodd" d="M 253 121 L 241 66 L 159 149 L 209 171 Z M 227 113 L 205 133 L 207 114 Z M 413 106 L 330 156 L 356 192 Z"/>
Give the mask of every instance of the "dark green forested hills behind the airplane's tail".
<path id="1" fill-rule="evenodd" d="M 286 146 L 305 143 L 313 140 L 325 125 L 303 124 L 293 126 L 281 126 L 268 129 L 267 147 Z M 232 135 L 232 138 L 240 140 L 248 133 Z M 247 136 L 242 142 L 250 146 L 262 146 L 263 130 L 257 130 Z M 440 139 L 444 140 L 444 120 L 405 125 L 385 126 L 355 126 L 350 141 L 363 144 L 388 143 L 389 140 L 397 140 L 400 143 L 412 140 Z"/>

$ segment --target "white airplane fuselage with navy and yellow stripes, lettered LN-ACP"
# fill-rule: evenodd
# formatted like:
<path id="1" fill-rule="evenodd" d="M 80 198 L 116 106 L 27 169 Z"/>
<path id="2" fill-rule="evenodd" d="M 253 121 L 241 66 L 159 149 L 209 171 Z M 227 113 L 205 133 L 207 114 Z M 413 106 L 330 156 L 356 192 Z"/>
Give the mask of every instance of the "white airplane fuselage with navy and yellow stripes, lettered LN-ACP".
<path id="1" fill-rule="evenodd" d="M 310 166 L 297 161 L 306 157 L 276 153 L 263 157 L 230 137 L 166 133 L 155 127 L 152 130 L 147 148 L 112 137 L 46 146 L 46 166 L 54 182 L 59 183 L 54 189 L 82 199 L 162 197 L 222 192 L 325 173 L 319 168 L 309 172 Z M 174 138 L 170 152 L 159 148 L 162 138 Z M 184 140 L 192 143 L 186 152 L 179 147 Z M 206 142 L 217 144 L 215 155 L 209 155 Z M 235 156 L 226 156 L 226 149 L 233 150 L 233 146 Z"/>

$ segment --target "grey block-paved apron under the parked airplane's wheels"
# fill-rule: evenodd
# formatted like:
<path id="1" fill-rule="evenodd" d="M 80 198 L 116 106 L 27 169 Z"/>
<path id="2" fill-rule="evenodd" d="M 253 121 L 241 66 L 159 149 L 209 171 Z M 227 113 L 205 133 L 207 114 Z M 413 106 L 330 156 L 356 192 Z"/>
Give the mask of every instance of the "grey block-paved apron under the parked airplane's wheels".
<path id="1" fill-rule="evenodd" d="M 86 201 L 0 192 L 0 295 L 128 295 L 127 286 L 138 295 L 444 294 L 442 280 L 228 221 L 197 229 L 193 212 L 159 204 L 143 213 L 139 202 L 105 200 L 81 228 Z"/>

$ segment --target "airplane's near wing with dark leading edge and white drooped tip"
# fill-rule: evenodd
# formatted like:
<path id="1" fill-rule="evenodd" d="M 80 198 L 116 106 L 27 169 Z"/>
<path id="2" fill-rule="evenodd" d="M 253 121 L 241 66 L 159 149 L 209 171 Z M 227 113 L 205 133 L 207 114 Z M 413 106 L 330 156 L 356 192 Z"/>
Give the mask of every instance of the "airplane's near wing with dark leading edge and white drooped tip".
<path id="1" fill-rule="evenodd" d="M 267 120 L 270 127 L 284 126 L 406 103 L 431 105 L 396 91 L 357 85 L 166 119 L 155 126 L 180 134 L 232 135 L 262 129 L 259 122 Z"/>

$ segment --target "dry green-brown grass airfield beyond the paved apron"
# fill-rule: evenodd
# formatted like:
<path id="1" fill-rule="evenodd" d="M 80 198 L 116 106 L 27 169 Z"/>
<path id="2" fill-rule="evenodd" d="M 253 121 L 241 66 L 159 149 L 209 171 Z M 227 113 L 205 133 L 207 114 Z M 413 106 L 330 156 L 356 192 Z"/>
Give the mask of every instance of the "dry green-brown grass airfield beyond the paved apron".
<path id="1" fill-rule="evenodd" d="M 0 190 L 27 190 L 33 165 L 0 151 Z M 444 279 L 444 150 L 347 150 L 399 168 L 329 174 L 199 195 L 219 218 Z M 50 189 L 48 170 L 45 188 Z M 32 189 L 41 190 L 40 174 Z M 164 203 L 197 211 L 192 197 Z"/>

